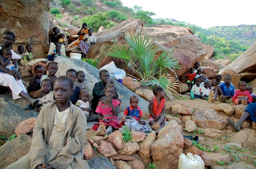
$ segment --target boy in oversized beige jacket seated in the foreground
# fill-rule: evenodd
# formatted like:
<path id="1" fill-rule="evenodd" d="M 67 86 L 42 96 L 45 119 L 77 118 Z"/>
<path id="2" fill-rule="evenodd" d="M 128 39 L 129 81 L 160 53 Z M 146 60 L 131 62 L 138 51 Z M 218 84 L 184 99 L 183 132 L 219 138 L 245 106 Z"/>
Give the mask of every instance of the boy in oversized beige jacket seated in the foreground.
<path id="1" fill-rule="evenodd" d="M 83 160 L 86 117 L 69 100 L 74 81 L 68 76 L 60 76 L 53 86 L 56 101 L 44 106 L 39 112 L 30 152 L 6 169 L 90 168 L 87 161 Z"/>

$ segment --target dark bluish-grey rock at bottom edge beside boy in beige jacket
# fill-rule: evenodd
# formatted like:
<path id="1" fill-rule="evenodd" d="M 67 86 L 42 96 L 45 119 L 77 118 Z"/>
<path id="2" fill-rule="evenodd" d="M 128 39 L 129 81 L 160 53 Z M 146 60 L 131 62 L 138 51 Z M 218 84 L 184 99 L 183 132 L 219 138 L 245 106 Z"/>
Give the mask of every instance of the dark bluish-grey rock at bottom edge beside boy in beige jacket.
<path id="1" fill-rule="evenodd" d="M 114 167 L 114 165 L 109 161 L 109 159 L 103 156 L 92 157 L 88 161 L 88 164 L 90 166 L 90 169 L 116 169 L 116 167 Z"/>

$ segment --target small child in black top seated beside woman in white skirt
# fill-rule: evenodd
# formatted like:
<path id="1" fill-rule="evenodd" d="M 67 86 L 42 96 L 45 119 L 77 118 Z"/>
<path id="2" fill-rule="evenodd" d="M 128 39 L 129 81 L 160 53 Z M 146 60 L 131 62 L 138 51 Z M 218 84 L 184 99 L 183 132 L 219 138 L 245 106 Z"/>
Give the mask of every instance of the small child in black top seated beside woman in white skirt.
<path id="1" fill-rule="evenodd" d="M 30 84 L 28 86 L 28 93 L 30 94 L 30 96 L 34 99 L 37 99 L 39 97 L 41 90 L 41 77 L 44 74 L 44 68 L 42 65 L 36 65 L 34 67 L 34 73 L 36 75 L 34 75 L 31 80 L 30 80 Z"/>

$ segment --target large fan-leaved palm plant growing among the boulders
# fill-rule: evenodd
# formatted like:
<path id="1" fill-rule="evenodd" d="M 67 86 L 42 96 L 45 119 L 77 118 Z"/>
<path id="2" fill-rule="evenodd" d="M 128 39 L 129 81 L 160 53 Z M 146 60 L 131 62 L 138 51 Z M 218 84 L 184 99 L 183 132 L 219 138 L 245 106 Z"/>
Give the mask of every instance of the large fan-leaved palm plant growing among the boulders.
<path id="1" fill-rule="evenodd" d="M 171 98 L 169 93 L 175 92 L 174 87 L 178 87 L 178 83 L 176 78 L 168 74 L 168 70 L 176 74 L 172 69 L 181 69 L 178 65 L 178 58 L 171 58 L 171 51 L 163 51 L 157 59 L 154 59 L 156 48 L 153 41 L 150 41 L 150 37 L 146 35 L 144 38 L 138 34 L 125 36 L 124 43 L 125 45 L 121 46 L 114 43 L 114 46 L 110 46 L 112 51 L 105 53 L 108 56 L 125 60 L 140 82 L 145 85 L 163 87 L 167 96 Z"/>

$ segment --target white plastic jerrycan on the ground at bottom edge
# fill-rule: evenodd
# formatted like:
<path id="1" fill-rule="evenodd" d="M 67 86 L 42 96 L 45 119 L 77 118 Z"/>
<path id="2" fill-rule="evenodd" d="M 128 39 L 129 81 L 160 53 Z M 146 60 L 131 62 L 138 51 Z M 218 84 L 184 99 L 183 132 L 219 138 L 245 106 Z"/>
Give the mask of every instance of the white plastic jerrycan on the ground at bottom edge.
<path id="1" fill-rule="evenodd" d="M 178 169 L 204 169 L 204 161 L 198 155 L 184 153 L 180 155 Z"/>

